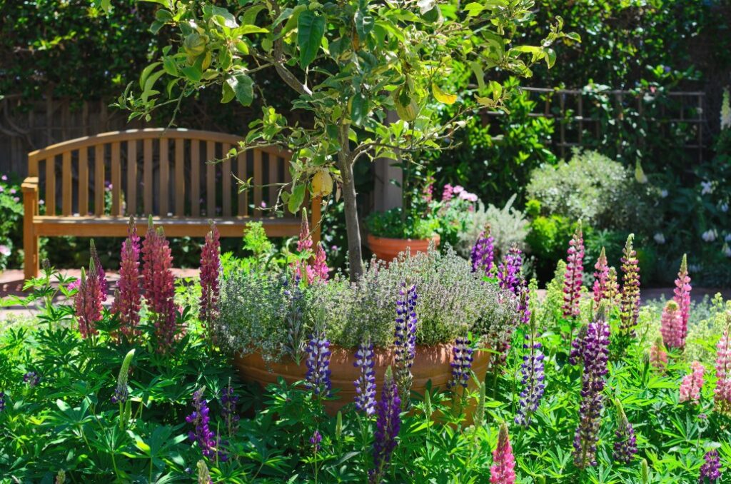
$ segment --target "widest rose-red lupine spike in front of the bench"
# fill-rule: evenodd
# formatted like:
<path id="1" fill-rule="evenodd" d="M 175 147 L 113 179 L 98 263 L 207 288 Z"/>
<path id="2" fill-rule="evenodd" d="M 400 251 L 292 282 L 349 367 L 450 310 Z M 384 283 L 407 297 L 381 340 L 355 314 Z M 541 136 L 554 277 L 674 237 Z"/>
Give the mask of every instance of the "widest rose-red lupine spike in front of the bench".
<path id="1" fill-rule="evenodd" d="M 150 219 L 145 240 L 142 243 L 143 286 L 145 300 L 152 312 L 157 350 L 169 352 L 173 347 L 178 325 L 175 320 L 175 279 L 173 278 L 173 256 L 162 227 L 152 225 Z"/>

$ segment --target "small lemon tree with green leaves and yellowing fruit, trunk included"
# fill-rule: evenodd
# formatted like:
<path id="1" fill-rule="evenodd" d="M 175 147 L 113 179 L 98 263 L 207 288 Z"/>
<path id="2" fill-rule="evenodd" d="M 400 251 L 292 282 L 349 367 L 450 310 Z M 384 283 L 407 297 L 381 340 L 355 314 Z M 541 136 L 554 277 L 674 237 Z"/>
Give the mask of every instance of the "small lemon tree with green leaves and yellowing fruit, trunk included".
<path id="1" fill-rule="evenodd" d="M 479 104 L 499 108 L 507 91 L 490 72 L 529 76 L 531 64 L 553 64 L 557 39 L 577 40 L 556 19 L 541 45 L 514 45 L 531 21 L 532 0 L 147 1 L 159 4 L 151 31 L 165 29 L 170 43 L 118 104 L 148 118 L 160 105 L 219 89 L 221 103 L 246 106 L 254 96 L 278 95 L 255 84 L 254 72 L 281 77 L 298 94 L 292 110 L 308 122 L 289 123 L 265 105 L 235 151 L 277 145 L 295 154 L 293 183 L 280 191 L 292 212 L 307 191 L 344 200 L 352 279 L 363 270 L 354 163 L 408 162 L 417 151 L 440 149 L 461 125 L 459 116 L 447 123 L 436 116 L 440 103 L 460 100 L 450 92 L 452 72 L 473 72 Z"/>

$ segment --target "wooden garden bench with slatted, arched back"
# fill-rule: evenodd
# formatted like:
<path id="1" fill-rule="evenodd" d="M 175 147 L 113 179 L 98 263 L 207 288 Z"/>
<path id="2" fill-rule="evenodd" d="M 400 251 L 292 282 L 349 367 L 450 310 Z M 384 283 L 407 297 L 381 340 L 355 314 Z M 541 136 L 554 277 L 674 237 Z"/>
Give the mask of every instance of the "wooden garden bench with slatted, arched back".
<path id="1" fill-rule="evenodd" d="M 278 218 L 262 210 L 276 203 L 281 184 L 292 181 L 289 153 L 262 148 L 207 163 L 224 158 L 239 141 L 216 132 L 131 129 L 31 152 L 23 181 L 26 279 L 39 270 L 39 237 L 124 237 L 130 215 L 143 221 L 153 216 L 171 237 L 204 237 L 211 219 L 222 237 L 241 237 L 251 221 L 261 221 L 273 237 L 298 235 L 298 217 Z M 253 187 L 239 193 L 232 175 L 253 178 Z M 319 200 L 314 200 L 316 243 L 319 218 Z M 146 223 L 138 224 L 141 234 L 146 228 Z"/>

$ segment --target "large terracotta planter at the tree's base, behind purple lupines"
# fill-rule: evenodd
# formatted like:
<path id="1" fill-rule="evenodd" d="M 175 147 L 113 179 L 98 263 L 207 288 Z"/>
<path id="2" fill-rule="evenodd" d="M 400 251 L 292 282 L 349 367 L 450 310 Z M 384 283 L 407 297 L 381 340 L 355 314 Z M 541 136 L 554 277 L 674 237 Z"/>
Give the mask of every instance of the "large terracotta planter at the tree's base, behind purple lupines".
<path id="1" fill-rule="evenodd" d="M 358 377 L 358 368 L 353 366 L 355 361 L 355 349 L 341 347 L 330 347 L 330 379 L 333 382 L 333 390 L 338 389 L 338 399 L 325 402 L 325 409 L 330 415 L 335 415 L 344 405 L 352 403 L 355 398 L 355 385 L 353 382 Z M 475 374 L 482 377 L 490 363 L 490 352 L 475 352 L 472 369 Z M 426 384 L 431 380 L 432 387 L 447 387 L 447 382 L 452 376 L 452 345 L 438 344 L 433 347 L 417 347 L 416 358 L 412 366 L 414 383 L 412 391 L 423 395 Z M 257 382 L 262 386 L 275 383 L 279 377 L 284 378 L 288 383 L 294 383 L 305 379 L 307 367 L 304 362 L 299 366 L 292 360 L 281 363 L 266 363 L 260 353 L 254 352 L 245 356 L 237 356 L 234 364 L 238 368 L 241 378 L 247 382 Z M 375 349 L 374 364 L 376 371 L 376 387 L 379 395 L 383 386 L 383 377 L 388 366 L 393 365 L 393 353 L 390 349 Z M 470 385 L 474 382 L 470 380 Z M 471 386 L 474 389 L 474 386 Z"/>

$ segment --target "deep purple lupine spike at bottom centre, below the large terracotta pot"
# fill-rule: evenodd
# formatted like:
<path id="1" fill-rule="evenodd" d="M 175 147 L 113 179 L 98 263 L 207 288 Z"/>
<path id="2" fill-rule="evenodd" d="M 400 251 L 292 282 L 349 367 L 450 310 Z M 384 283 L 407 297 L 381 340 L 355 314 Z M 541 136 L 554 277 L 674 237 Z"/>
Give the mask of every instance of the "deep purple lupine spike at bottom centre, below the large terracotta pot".
<path id="1" fill-rule="evenodd" d="M 396 447 L 396 437 L 401 428 L 401 398 L 393 379 L 391 368 L 387 368 L 381 390 L 381 401 L 376 406 L 376 431 L 373 442 L 374 469 L 368 471 L 368 483 L 379 484 L 391 461 Z"/>

